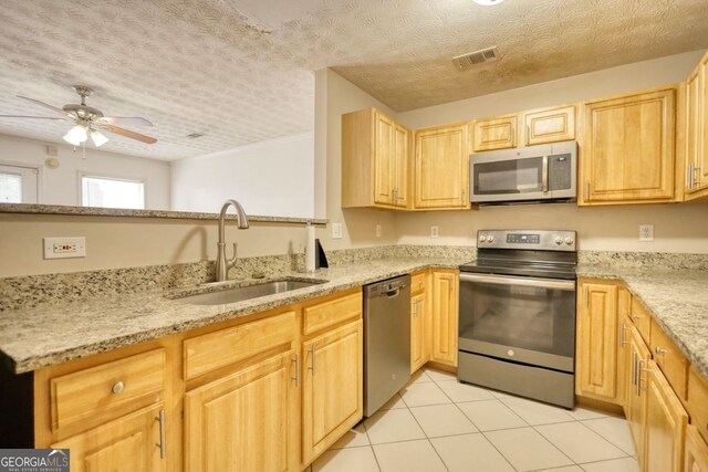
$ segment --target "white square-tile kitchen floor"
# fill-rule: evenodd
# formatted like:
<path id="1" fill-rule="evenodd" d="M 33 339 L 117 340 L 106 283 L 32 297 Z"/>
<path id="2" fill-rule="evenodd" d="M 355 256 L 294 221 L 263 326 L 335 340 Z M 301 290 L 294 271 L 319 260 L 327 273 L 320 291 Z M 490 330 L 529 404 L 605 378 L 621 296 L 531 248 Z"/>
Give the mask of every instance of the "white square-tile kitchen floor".
<path id="1" fill-rule="evenodd" d="M 638 472 L 627 422 L 568 411 L 425 369 L 312 472 Z"/>

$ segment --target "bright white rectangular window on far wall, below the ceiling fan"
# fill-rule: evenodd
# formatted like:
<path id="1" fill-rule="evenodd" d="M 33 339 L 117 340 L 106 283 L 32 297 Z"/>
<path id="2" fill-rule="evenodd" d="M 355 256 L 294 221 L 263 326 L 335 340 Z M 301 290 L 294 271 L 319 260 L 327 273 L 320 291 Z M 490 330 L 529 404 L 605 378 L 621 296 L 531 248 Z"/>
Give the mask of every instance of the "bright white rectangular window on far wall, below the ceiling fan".
<path id="1" fill-rule="evenodd" d="M 81 176 L 84 207 L 145 209 L 145 183 L 114 177 Z"/>

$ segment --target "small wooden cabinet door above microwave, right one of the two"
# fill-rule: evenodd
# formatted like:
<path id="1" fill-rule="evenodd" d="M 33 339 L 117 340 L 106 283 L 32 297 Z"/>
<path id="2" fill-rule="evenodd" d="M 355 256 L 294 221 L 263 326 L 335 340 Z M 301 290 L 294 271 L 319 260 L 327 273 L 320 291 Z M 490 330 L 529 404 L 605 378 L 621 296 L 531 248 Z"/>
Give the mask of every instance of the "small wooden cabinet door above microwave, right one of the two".
<path id="1" fill-rule="evenodd" d="M 575 139 L 575 106 L 523 114 L 527 146 Z"/>

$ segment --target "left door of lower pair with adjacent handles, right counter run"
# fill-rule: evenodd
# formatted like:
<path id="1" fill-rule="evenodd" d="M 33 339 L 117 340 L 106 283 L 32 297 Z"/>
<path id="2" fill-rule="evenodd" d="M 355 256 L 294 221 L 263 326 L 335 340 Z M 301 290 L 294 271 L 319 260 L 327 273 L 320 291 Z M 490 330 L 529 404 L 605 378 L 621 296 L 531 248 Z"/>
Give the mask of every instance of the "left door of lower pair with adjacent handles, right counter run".
<path id="1" fill-rule="evenodd" d="M 625 373 L 627 382 L 627 422 L 634 439 L 637 458 L 644 455 L 644 420 L 646 413 L 646 376 L 641 376 L 641 368 L 646 368 L 652 358 L 649 349 L 644 344 L 636 327 L 629 329 L 629 363 L 631 368 Z M 642 460 L 639 459 L 639 463 Z"/>

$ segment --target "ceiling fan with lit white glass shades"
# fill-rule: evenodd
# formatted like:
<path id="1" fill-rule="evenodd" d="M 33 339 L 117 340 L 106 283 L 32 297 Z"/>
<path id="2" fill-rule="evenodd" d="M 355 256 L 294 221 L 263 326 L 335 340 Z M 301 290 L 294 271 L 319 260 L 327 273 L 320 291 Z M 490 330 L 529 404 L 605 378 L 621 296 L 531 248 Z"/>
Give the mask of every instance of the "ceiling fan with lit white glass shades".
<path id="1" fill-rule="evenodd" d="M 61 108 L 49 105 L 39 99 L 30 98 L 27 96 L 18 95 L 18 98 L 27 99 L 35 103 L 44 108 L 49 108 L 56 112 L 61 117 L 53 116 L 21 116 L 21 115 L 0 115 L 0 118 L 34 118 L 34 119 L 73 119 L 74 126 L 66 133 L 64 140 L 74 146 L 79 146 L 88 139 L 98 146 L 103 146 L 108 141 L 108 138 L 101 133 L 101 130 L 114 133 L 116 135 L 125 136 L 126 138 L 136 139 L 146 144 L 155 144 L 157 139 L 142 135 L 139 133 L 131 132 L 118 126 L 153 126 L 150 122 L 145 118 L 138 117 L 118 117 L 118 116 L 103 116 L 103 113 L 92 106 L 86 105 L 86 97 L 93 94 L 93 90 L 85 85 L 74 85 L 74 91 L 81 97 L 81 104 L 69 104 Z"/>

